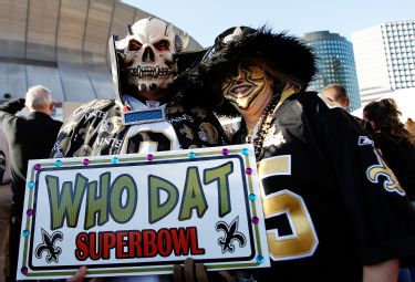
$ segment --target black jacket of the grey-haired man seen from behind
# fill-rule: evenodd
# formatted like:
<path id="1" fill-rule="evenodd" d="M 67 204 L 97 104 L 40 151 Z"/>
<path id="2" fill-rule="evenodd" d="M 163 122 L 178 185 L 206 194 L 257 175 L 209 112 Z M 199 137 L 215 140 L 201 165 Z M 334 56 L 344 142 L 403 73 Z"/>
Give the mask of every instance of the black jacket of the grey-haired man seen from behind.
<path id="1" fill-rule="evenodd" d="M 4 130 L 10 148 L 12 212 L 19 216 L 24 200 L 28 160 L 49 158 L 62 125 L 61 122 L 41 112 L 31 112 L 27 117 L 15 116 L 15 113 L 23 107 L 24 98 L 0 105 L 0 126 Z"/>

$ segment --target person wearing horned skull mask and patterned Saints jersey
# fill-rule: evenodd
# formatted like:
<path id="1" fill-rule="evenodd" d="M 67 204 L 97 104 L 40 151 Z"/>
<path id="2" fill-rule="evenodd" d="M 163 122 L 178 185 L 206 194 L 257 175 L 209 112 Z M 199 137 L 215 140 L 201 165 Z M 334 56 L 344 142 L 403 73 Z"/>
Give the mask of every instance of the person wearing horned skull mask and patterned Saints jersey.
<path id="1" fill-rule="evenodd" d="M 219 146 L 219 122 L 201 107 L 179 103 L 172 86 L 180 66 L 200 52 L 184 52 L 188 38 L 173 25 L 147 18 L 128 25 L 122 40 L 110 39 L 116 100 L 94 100 L 63 124 L 51 157 L 148 153 Z M 207 128 L 215 134 L 207 135 Z M 212 138 L 214 136 L 214 138 Z"/>

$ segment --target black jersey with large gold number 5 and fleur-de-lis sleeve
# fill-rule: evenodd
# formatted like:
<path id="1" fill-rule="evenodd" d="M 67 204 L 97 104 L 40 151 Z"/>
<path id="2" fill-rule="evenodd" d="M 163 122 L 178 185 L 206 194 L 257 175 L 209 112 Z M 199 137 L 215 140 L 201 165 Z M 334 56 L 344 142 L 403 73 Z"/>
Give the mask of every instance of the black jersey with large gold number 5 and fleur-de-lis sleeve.
<path id="1" fill-rule="evenodd" d="M 361 281 L 415 255 L 415 210 L 361 125 L 317 93 L 273 113 L 259 156 L 272 267 L 259 281 Z"/>

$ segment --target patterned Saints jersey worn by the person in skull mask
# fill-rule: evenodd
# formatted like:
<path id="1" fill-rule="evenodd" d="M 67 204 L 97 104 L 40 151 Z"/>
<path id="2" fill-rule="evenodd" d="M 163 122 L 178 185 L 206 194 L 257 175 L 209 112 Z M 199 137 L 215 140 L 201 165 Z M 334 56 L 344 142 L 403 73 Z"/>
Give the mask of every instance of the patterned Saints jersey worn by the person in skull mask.
<path id="1" fill-rule="evenodd" d="M 137 108 L 151 108 L 137 101 Z M 136 108 L 136 109 L 137 109 Z M 79 107 L 63 124 L 51 157 L 149 153 L 221 146 L 227 137 L 219 121 L 200 107 L 164 104 L 165 121 L 124 125 L 122 104 L 94 100 Z"/>

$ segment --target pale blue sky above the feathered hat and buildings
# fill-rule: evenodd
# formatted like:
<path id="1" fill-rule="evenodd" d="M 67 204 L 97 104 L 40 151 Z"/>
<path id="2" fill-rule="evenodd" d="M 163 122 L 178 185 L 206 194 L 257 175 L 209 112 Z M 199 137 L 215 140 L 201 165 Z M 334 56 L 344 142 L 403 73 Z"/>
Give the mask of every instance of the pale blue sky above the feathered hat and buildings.
<path id="1" fill-rule="evenodd" d="M 187 31 L 203 46 L 235 25 L 268 24 L 302 36 L 329 30 L 351 40 L 382 22 L 415 20 L 415 0 L 122 0 Z"/>

